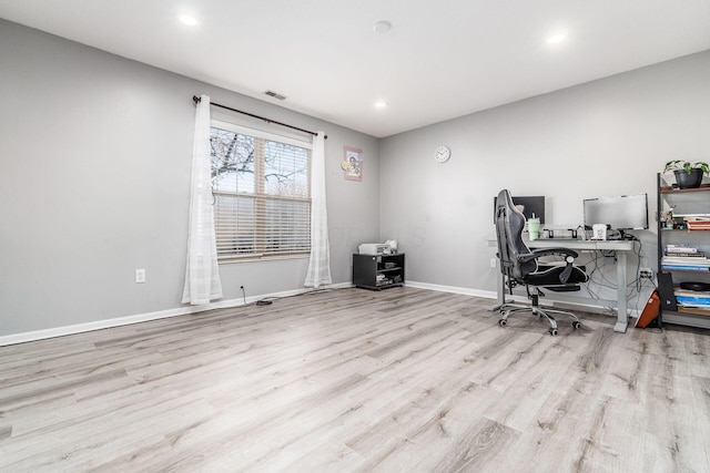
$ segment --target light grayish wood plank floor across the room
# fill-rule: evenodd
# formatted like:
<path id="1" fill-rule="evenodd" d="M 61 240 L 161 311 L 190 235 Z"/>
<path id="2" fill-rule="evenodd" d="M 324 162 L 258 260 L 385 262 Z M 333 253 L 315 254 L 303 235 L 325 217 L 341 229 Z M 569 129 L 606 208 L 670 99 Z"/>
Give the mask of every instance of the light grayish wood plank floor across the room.
<path id="1" fill-rule="evenodd" d="M 710 332 L 345 289 L 0 348 L 0 471 L 708 472 Z"/>

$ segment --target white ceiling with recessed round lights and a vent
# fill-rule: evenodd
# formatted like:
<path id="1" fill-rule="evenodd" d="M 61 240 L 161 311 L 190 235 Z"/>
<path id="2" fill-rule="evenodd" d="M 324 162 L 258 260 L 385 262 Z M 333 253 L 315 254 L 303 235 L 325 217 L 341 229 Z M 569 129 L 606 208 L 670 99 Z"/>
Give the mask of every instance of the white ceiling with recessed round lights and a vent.
<path id="1" fill-rule="evenodd" d="M 710 49 L 709 0 L 0 0 L 0 18 L 378 137 Z"/>

